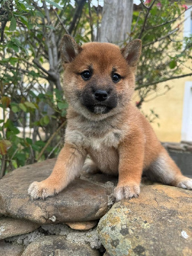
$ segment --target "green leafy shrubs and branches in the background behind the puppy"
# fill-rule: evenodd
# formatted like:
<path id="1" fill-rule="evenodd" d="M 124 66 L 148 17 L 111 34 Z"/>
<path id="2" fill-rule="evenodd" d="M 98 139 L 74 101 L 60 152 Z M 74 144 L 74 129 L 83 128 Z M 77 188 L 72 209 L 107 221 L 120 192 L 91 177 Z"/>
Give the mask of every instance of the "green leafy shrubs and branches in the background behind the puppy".
<path id="1" fill-rule="evenodd" d="M 182 71 L 192 45 L 191 37 L 179 36 L 185 10 L 184 1 L 141 0 L 129 13 L 132 29 L 125 44 L 134 38 L 143 42 L 138 108 L 170 90 L 159 90 L 162 81 L 191 74 Z M 97 1 L 0 0 L 0 177 L 60 151 L 67 109 L 60 40 L 68 33 L 79 44 L 99 41 L 101 21 Z M 153 122 L 158 116 L 151 114 Z"/>

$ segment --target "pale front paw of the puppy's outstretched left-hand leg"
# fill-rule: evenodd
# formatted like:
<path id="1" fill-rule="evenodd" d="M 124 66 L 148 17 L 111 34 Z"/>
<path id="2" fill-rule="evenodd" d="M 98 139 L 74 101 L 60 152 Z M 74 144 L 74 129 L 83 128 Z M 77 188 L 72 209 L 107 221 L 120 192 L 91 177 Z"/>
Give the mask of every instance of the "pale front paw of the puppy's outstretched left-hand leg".
<path id="1" fill-rule="evenodd" d="M 45 199 L 48 196 L 57 195 L 59 191 L 56 188 L 49 186 L 49 184 L 42 182 L 33 182 L 29 186 L 28 194 L 31 196 L 31 199 L 42 198 Z"/>

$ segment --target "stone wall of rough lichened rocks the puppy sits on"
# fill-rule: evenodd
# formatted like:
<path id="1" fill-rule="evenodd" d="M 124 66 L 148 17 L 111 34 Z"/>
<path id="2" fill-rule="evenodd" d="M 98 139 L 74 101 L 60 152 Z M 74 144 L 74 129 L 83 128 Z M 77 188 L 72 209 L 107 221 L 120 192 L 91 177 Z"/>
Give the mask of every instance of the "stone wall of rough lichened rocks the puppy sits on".
<path id="1" fill-rule="evenodd" d="M 81 173 L 57 196 L 32 201 L 29 184 L 54 163 L 0 180 L 1 256 L 192 255 L 191 191 L 143 180 L 140 198 L 115 203 L 117 177 Z"/>

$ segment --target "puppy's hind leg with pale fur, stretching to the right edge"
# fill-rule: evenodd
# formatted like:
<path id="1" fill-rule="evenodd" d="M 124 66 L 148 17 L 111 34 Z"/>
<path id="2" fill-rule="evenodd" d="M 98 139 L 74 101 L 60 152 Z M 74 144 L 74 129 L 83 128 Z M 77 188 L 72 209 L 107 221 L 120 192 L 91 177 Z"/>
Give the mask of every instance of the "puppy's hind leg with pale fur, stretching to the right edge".
<path id="1" fill-rule="evenodd" d="M 189 190 L 192 189 L 192 179 L 182 175 L 179 167 L 177 167 L 163 147 L 146 174 L 150 179 L 162 182 L 163 184 Z"/>

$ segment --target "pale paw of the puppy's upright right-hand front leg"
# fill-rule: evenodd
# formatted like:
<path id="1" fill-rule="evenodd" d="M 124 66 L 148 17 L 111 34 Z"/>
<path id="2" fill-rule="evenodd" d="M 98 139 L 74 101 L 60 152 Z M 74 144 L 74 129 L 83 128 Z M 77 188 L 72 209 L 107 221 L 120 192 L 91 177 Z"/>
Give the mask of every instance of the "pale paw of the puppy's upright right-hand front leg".
<path id="1" fill-rule="evenodd" d="M 117 186 L 114 189 L 114 195 L 116 198 L 116 201 L 122 200 L 122 199 L 130 199 L 132 197 L 138 197 L 140 194 L 140 185 L 138 184 L 125 184 L 124 186 Z"/>

